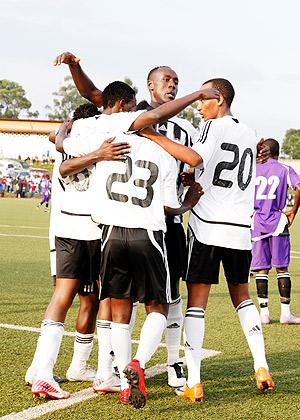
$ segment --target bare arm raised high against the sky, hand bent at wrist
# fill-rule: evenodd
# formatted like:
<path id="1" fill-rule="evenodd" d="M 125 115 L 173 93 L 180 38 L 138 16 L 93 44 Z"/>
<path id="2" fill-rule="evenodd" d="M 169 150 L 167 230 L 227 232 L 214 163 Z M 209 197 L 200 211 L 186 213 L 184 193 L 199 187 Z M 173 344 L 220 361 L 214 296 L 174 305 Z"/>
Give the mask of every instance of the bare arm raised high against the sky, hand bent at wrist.
<path id="1" fill-rule="evenodd" d="M 90 78 L 84 73 L 80 64 L 80 58 L 70 52 L 64 52 L 58 55 L 54 60 L 54 66 L 67 64 L 71 76 L 79 93 L 84 98 L 93 102 L 98 108 L 102 106 L 102 91 L 98 89 Z"/>

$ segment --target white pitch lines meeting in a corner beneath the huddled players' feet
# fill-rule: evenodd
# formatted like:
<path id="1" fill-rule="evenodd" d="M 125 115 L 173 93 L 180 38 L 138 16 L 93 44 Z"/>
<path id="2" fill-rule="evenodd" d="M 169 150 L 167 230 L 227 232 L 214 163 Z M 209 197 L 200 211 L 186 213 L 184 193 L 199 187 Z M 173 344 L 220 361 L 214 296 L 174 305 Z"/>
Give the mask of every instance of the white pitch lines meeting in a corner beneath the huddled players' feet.
<path id="1" fill-rule="evenodd" d="M 13 330 L 22 330 L 22 331 L 31 331 L 35 333 L 40 332 L 40 328 L 34 328 L 34 327 L 25 327 L 22 325 L 12 325 L 12 324 L 0 324 L 0 328 L 8 328 Z M 74 336 L 74 332 L 67 332 L 65 331 L 64 335 L 67 336 Z M 133 343 L 139 343 L 138 340 L 132 340 Z M 164 343 L 160 344 L 160 347 L 165 347 L 166 345 Z M 183 349 L 183 346 L 181 346 Z M 216 350 L 202 350 L 202 356 L 201 359 L 207 359 L 208 357 L 217 356 L 220 354 L 220 351 Z M 185 358 L 182 357 L 180 360 L 184 365 Z M 145 370 L 145 376 L 146 378 L 153 378 L 154 376 L 160 375 L 161 373 L 166 372 L 167 364 L 160 364 L 152 366 L 151 368 L 148 368 Z M 89 400 L 91 398 L 98 397 L 98 394 L 93 391 L 93 389 L 87 388 L 83 389 L 82 391 L 77 391 L 74 394 L 70 395 L 70 398 L 63 399 L 63 400 L 51 400 L 47 403 L 44 403 L 42 405 L 37 405 L 35 407 L 27 408 L 26 410 L 20 411 L 18 413 L 10 413 L 6 416 L 0 417 L 2 420 L 31 420 L 36 419 L 40 416 L 43 416 L 44 414 L 52 413 L 53 411 L 62 410 L 64 408 L 70 407 L 73 404 Z"/>

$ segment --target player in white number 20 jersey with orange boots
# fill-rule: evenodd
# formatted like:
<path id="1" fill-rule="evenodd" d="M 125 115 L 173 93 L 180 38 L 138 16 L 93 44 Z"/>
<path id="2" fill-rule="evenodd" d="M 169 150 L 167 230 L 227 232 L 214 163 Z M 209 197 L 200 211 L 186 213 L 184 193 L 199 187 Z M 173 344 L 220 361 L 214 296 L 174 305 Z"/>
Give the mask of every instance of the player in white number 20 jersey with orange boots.
<path id="1" fill-rule="evenodd" d="M 187 386 L 178 390 L 191 401 L 203 399 L 200 379 L 204 316 L 212 284 L 218 283 L 222 262 L 229 294 L 254 359 L 259 389 L 273 389 L 265 357 L 259 313 L 248 288 L 251 263 L 255 158 L 254 132 L 232 116 L 234 89 L 226 79 L 212 79 L 202 88 L 216 88 L 220 99 L 200 100 L 206 122 L 192 149 L 153 133 L 147 136 L 177 159 L 195 166 L 204 195 L 189 219 L 189 261 L 186 274 L 188 303 L 184 322 Z M 197 152 L 195 159 L 192 152 Z"/>

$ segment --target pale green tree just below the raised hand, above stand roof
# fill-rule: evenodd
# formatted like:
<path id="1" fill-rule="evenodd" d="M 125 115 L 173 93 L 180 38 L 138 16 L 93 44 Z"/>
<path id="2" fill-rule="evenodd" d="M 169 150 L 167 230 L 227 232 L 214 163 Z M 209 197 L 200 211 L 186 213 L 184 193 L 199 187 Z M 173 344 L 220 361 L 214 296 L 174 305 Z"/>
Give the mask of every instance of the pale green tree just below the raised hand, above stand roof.
<path id="1" fill-rule="evenodd" d="M 53 107 L 46 106 L 46 109 L 51 111 L 47 114 L 51 120 L 68 120 L 79 105 L 87 102 L 80 96 L 73 82 L 70 83 L 71 81 L 72 77 L 66 76 L 65 84 L 60 86 L 57 92 L 53 92 Z"/>

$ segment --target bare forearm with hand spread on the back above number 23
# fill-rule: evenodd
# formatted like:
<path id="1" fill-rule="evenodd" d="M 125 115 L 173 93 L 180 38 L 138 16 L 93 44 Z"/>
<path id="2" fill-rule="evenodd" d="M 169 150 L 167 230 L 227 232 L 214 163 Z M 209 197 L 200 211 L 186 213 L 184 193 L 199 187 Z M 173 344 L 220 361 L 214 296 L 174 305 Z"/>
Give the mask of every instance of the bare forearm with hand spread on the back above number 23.
<path id="1" fill-rule="evenodd" d="M 95 151 L 85 156 L 67 159 L 61 163 L 59 172 L 64 178 L 69 175 L 77 174 L 84 168 L 102 160 L 125 160 L 127 153 L 130 152 L 130 145 L 126 142 L 113 143 L 115 137 L 105 140 Z"/>

